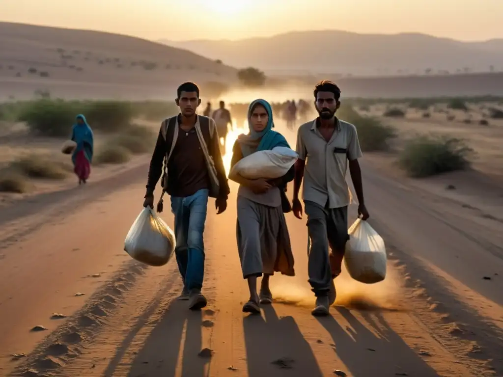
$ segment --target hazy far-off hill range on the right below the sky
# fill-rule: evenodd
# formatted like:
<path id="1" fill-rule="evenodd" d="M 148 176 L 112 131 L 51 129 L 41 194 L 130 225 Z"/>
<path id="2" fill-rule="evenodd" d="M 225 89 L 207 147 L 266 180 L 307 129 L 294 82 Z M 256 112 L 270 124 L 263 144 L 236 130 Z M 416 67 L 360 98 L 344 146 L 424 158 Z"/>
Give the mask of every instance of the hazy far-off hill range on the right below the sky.
<path id="1" fill-rule="evenodd" d="M 237 67 L 269 71 L 395 75 L 438 71 L 503 70 L 503 39 L 461 42 L 425 34 L 358 34 L 337 30 L 291 32 L 238 41 L 194 40 L 186 48 Z"/>

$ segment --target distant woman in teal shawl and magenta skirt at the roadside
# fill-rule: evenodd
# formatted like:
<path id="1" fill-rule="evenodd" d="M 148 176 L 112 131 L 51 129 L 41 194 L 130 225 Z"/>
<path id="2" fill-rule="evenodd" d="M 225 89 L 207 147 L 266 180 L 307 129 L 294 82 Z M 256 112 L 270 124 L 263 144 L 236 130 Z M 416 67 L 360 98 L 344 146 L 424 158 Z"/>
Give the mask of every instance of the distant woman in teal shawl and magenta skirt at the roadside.
<path id="1" fill-rule="evenodd" d="M 71 140 L 77 144 L 71 155 L 73 171 L 78 177 L 78 184 L 86 183 L 91 173 L 94 135 L 93 130 L 86 121 L 86 117 L 81 114 L 76 117 L 76 123 L 71 130 Z"/>

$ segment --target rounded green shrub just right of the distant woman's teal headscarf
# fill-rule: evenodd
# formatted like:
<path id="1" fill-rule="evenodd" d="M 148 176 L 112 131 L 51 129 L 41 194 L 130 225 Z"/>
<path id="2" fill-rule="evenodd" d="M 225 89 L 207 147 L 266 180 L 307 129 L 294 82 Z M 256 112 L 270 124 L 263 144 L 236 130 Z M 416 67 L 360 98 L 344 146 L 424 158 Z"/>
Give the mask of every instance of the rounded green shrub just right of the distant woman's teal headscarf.
<path id="1" fill-rule="evenodd" d="M 131 122 L 133 108 L 128 102 L 97 101 L 88 103 L 82 113 L 93 129 L 116 132 Z"/>

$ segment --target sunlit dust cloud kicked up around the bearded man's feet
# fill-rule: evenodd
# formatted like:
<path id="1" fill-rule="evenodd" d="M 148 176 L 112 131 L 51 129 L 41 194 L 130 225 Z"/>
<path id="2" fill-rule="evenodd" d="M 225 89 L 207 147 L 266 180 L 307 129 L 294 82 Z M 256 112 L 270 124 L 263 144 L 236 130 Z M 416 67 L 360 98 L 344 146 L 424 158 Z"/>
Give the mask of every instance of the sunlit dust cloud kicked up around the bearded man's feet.
<path id="1" fill-rule="evenodd" d="M 273 276 L 271 291 L 275 302 L 312 308 L 316 298 L 307 282 L 307 271 L 295 277 Z M 403 311 L 403 284 L 398 272 L 388 263 L 386 278 L 376 284 L 354 280 L 343 263 L 343 272 L 335 280 L 337 299 L 334 306 L 357 310 Z"/>

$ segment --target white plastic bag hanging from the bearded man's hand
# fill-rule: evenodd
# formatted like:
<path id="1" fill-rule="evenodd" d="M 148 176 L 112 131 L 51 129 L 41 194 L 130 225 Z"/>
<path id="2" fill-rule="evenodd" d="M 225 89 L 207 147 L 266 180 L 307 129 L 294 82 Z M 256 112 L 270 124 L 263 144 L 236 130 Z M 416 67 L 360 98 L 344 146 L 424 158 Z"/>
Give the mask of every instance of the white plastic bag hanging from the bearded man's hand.
<path id="1" fill-rule="evenodd" d="M 384 280 L 387 258 L 381 236 L 361 219 L 353 223 L 348 233 L 344 263 L 351 277 L 366 284 Z"/>

